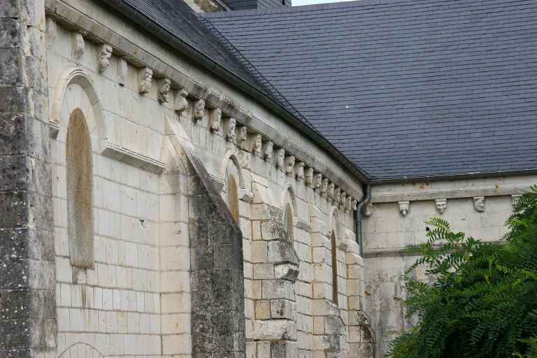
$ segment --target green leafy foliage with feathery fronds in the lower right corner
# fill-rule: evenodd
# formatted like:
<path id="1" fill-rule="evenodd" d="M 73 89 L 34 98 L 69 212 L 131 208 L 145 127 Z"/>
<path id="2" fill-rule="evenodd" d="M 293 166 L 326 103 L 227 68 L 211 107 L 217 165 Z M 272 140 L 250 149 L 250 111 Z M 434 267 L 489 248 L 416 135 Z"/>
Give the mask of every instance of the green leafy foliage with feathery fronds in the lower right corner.
<path id="1" fill-rule="evenodd" d="M 406 271 L 418 322 L 389 346 L 392 358 L 537 358 L 537 187 L 521 196 L 501 243 L 453 232 L 434 217 Z M 415 278 L 418 266 L 435 278 Z"/>

